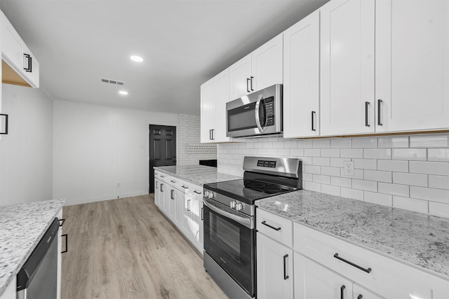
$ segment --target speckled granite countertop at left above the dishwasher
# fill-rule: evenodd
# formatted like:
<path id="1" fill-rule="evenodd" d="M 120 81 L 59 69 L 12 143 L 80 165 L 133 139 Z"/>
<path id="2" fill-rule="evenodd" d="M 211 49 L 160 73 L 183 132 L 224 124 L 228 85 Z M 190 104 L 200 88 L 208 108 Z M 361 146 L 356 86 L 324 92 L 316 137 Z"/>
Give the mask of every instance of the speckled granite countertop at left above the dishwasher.
<path id="1" fill-rule="evenodd" d="M 64 203 L 46 200 L 0 207 L 0 296 Z"/>

